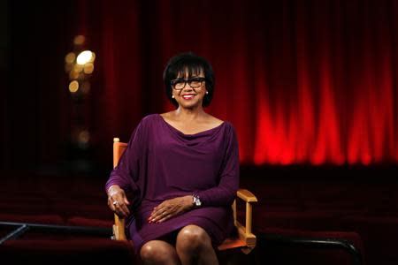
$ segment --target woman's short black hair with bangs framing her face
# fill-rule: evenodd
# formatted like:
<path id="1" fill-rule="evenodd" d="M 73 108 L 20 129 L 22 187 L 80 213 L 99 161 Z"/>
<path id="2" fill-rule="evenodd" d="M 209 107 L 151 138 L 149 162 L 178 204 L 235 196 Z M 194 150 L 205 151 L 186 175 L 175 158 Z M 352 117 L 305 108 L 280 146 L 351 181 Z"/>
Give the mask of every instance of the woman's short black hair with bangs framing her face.
<path id="1" fill-rule="evenodd" d="M 179 106 L 178 102 L 172 98 L 172 84 L 171 81 L 176 79 L 180 74 L 188 71 L 189 76 L 204 73 L 204 79 L 206 81 L 206 90 L 209 92 L 204 95 L 202 105 L 207 107 L 210 105 L 211 99 L 213 98 L 214 92 L 214 72 L 206 59 L 195 55 L 193 52 L 184 52 L 172 57 L 165 67 L 163 72 L 163 80 L 165 81 L 165 93 L 167 98 L 176 107 Z"/>

